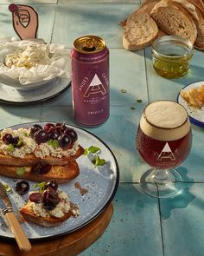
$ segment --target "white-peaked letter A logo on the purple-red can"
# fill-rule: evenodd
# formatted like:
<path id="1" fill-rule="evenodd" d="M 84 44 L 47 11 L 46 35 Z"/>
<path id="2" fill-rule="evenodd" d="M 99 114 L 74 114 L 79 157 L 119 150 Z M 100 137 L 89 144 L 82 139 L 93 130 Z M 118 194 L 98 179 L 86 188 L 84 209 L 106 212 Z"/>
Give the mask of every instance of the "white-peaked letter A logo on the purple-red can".
<path id="1" fill-rule="evenodd" d="M 90 95 L 95 95 L 95 94 L 101 94 L 101 95 L 106 94 L 105 87 L 103 83 L 99 80 L 99 76 L 96 74 L 93 76 L 92 82 L 90 82 L 83 96 L 88 98 Z"/>

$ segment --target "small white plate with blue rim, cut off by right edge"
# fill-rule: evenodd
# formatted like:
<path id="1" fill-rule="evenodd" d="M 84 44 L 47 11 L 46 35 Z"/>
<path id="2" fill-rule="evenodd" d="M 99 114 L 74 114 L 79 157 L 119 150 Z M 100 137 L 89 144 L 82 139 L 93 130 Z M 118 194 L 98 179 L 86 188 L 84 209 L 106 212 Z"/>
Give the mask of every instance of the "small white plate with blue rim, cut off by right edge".
<path id="1" fill-rule="evenodd" d="M 204 84 L 204 81 L 194 82 L 194 83 L 188 84 L 182 90 L 185 91 L 188 89 L 198 88 L 198 87 L 201 87 L 202 84 Z M 204 108 L 197 109 L 197 108 L 188 106 L 188 103 L 182 98 L 180 93 L 177 97 L 177 102 L 182 104 L 182 106 L 187 109 L 191 123 L 201 128 L 204 128 Z"/>

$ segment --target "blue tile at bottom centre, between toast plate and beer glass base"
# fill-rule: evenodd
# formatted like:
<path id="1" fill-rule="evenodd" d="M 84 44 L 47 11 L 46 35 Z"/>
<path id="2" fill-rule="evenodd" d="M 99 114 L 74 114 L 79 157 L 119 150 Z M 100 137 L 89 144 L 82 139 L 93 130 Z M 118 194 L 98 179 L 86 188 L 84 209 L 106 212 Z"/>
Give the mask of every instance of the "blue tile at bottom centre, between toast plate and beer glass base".
<path id="1" fill-rule="evenodd" d="M 120 184 L 112 221 L 105 233 L 80 256 L 163 256 L 157 200 Z M 179 254 L 178 254 L 179 255 Z"/>

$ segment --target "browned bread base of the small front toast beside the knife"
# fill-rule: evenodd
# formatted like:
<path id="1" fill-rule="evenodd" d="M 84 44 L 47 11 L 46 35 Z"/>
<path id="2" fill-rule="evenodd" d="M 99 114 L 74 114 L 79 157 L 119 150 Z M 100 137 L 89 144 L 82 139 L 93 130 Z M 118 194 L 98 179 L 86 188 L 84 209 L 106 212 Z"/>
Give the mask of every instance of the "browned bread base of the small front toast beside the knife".
<path id="1" fill-rule="evenodd" d="M 53 216 L 49 216 L 49 217 L 37 216 L 37 215 L 35 215 L 35 213 L 33 213 L 29 210 L 28 203 L 20 209 L 20 213 L 22 214 L 22 217 L 25 220 L 29 220 L 29 221 L 34 222 L 35 224 L 41 225 L 41 226 L 58 226 L 61 224 L 61 222 L 69 219 L 72 216 L 71 211 L 69 211 L 68 213 L 65 213 L 61 218 L 56 218 Z"/>

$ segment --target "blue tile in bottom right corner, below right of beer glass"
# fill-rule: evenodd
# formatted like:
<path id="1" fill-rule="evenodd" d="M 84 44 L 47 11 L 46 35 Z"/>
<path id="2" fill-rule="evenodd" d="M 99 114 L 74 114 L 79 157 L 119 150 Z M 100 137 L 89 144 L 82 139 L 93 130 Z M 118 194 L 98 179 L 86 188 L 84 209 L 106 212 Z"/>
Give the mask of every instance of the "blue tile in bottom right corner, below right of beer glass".
<path id="1" fill-rule="evenodd" d="M 173 200 L 161 200 L 165 256 L 203 255 L 204 184 L 187 184 Z"/>

